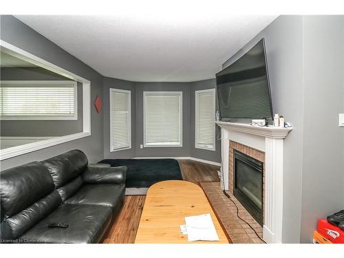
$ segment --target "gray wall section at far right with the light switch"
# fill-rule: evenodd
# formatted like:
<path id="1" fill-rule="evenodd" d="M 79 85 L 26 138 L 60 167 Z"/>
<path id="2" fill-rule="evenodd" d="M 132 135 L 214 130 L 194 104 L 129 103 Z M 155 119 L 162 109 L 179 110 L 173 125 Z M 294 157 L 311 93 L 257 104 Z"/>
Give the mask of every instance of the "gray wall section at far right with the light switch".
<path id="1" fill-rule="evenodd" d="M 301 242 L 319 218 L 344 208 L 343 16 L 303 17 L 303 164 Z"/>

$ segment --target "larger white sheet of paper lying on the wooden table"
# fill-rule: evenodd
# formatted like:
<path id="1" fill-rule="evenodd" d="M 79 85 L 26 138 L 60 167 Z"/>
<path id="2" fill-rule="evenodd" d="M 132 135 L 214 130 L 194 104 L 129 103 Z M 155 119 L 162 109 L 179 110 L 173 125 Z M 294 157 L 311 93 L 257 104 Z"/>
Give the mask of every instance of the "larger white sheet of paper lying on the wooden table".
<path id="1" fill-rule="evenodd" d="M 189 241 L 219 241 L 213 219 L 209 213 L 185 217 Z"/>

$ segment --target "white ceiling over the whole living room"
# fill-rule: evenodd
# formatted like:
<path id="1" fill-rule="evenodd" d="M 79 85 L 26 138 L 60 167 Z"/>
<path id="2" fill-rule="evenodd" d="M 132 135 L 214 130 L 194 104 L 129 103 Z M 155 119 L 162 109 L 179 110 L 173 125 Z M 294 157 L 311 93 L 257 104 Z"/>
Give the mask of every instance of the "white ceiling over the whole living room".
<path id="1" fill-rule="evenodd" d="M 103 76 L 189 82 L 214 78 L 222 63 L 277 16 L 136 12 L 16 17 Z"/>

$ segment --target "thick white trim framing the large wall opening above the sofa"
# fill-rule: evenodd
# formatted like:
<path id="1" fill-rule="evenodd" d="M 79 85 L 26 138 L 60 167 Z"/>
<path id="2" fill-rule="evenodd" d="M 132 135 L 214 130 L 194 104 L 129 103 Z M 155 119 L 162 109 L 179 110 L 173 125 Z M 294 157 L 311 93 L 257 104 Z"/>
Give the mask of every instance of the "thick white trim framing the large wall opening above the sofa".
<path id="1" fill-rule="evenodd" d="M 47 147 L 52 147 L 57 144 L 64 142 L 70 142 L 72 140 L 77 140 L 91 135 L 91 82 L 86 78 L 73 74 L 72 72 L 67 71 L 57 65 L 54 65 L 44 59 L 34 56 L 25 50 L 21 50 L 19 47 L 16 47 L 6 41 L 0 39 L 0 46 L 2 51 L 10 52 L 13 56 L 25 59 L 34 65 L 43 67 L 60 74 L 77 82 L 83 83 L 83 131 L 80 133 L 69 134 L 68 136 L 56 137 L 48 140 L 42 140 L 41 142 L 32 142 L 28 144 L 23 144 L 21 146 L 11 147 L 8 149 L 0 150 L 0 160 L 6 160 L 18 155 L 25 153 L 30 153 L 32 151 L 38 151 L 39 149 L 45 149 Z"/>

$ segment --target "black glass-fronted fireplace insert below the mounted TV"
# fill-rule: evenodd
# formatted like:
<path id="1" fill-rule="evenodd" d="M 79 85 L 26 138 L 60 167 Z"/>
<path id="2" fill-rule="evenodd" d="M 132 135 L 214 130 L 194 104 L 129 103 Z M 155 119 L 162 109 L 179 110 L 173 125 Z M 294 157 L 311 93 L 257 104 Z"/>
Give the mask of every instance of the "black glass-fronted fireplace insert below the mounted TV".
<path id="1" fill-rule="evenodd" d="M 233 194 L 263 226 L 264 163 L 234 150 Z"/>

